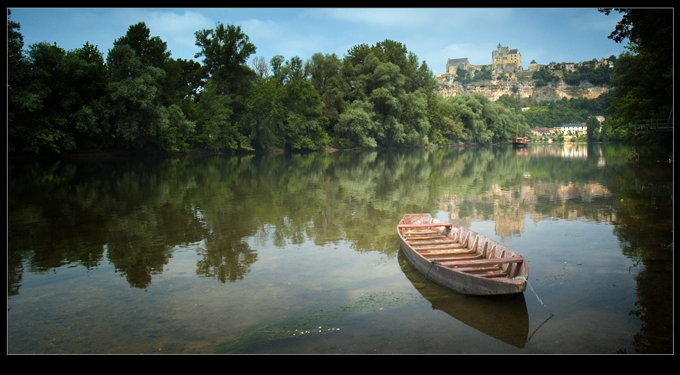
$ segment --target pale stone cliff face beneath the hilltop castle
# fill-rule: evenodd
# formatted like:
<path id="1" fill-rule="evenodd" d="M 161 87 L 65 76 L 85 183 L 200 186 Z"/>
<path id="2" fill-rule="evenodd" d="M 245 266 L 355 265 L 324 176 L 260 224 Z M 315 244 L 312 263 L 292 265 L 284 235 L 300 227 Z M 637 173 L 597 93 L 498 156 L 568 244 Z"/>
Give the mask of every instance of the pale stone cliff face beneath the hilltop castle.
<path id="1" fill-rule="evenodd" d="M 439 94 L 444 97 L 456 96 L 457 94 L 483 94 L 491 101 L 496 101 L 503 95 L 518 96 L 519 98 L 534 98 L 536 101 L 556 101 L 561 98 L 588 98 L 593 99 L 609 91 L 608 86 L 595 86 L 590 82 L 581 82 L 581 85 L 570 86 L 564 82 L 551 83 L 548 86 L 536 87 L 534 80 L 487 80 L 470 82 L 462 85 L 461 82 L 439 82 Z"/>

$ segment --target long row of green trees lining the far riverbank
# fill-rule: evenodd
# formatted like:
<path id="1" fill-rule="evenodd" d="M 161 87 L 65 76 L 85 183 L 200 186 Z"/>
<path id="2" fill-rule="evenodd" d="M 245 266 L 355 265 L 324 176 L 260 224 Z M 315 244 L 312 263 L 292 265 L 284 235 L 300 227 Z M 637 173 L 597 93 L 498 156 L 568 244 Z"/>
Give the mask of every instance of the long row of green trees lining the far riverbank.
<path id="1" fill-rule="evenodd" d="M 10 18 L 8 10 L 8 152 L 505 143 L 536 126 L 630 110 L 622 103 L 633 83 L 622 75 L 612 80 L 629 88 L 624 96 L 533 103 L 525 112 L 516 98 L 443 98 L 427 64 L 393 40 L 353 46 L 342 58 L 265 58 L 239 26 L 218 24 L 196 31 L 196 62 L 172 58 L 144 22 L 104 55 L 89 42 L 72 51 L 46 42 L 24 49 Z M 630 67 L 634 57 L 620 60 Z M 601 139 L 624 138 L 623 123 L 605 121 L 609 135 Z"/>

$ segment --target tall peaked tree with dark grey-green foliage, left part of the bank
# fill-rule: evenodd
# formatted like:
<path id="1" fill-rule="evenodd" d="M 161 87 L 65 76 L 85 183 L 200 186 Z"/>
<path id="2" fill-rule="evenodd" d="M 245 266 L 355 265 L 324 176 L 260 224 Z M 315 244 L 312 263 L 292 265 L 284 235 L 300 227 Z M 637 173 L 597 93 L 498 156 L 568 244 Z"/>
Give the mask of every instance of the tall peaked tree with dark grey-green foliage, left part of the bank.
<path id="1" fill-rule="evenodd" d="M 194 139 L 187 119 L 203 84 L 201 66 L 170 58 L 167 44 L 144 22 L 128 28 L 108 53 L 106 86 L 112 146 L 182 151 Z"/>

